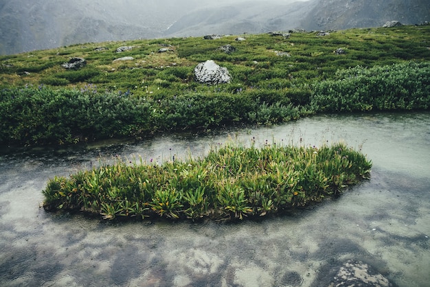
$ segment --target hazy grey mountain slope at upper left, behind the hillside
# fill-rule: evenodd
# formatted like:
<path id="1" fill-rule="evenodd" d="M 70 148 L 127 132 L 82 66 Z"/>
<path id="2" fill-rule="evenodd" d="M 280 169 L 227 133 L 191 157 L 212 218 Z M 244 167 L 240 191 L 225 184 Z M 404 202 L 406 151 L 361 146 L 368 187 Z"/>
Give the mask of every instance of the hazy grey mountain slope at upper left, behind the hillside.
<path id="1" fill-rule="evenodd" d="M 155 38 L 194 7 L 175 0 L 14 0 L 0 5 L 0 54 L 75 43 Z"/>

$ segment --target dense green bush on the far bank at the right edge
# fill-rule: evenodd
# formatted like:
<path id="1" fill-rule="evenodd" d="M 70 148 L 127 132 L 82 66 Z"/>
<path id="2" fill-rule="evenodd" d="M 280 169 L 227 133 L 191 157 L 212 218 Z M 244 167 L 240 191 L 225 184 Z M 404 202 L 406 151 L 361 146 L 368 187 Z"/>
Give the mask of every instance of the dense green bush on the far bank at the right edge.
<path id="1" fill-rule="evenodd" d="M 335 79 L 313 85 L 310 102 L 317 112 L 427 110 L 430 62 L 339 70 Z"/>

